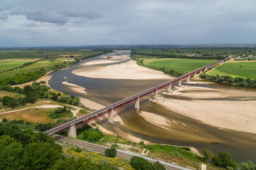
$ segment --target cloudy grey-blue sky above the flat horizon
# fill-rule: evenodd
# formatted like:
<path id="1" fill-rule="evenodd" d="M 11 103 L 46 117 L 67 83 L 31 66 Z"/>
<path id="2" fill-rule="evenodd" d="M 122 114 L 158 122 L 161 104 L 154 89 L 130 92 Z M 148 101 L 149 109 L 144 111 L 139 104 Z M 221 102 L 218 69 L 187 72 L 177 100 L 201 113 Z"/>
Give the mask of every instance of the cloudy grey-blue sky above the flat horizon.
<path id="1" fill-rule="evenodd" d="M 256 0 L 0 0 L 0 47 L 255 43 Z"/>

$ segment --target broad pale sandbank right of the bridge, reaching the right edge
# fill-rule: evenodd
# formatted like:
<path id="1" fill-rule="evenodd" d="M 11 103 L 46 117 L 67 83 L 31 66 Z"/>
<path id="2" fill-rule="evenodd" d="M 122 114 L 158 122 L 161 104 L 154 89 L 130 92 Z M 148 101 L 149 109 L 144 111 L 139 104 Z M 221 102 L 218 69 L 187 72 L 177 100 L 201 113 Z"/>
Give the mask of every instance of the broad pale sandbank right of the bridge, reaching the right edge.
<path id="1" fill-rule="evenodd" d="M 242 95 L 240 91 L 228 89 L 222 91 L 192 86 L 176 88 L 177 90 L 171 93 L 163 92 L 163 94 L 179 96 L 180 99 L 154 100 L 154 102 L 170 111 L 208 125 L 249 133 L 256 132 L 256 94 L 254 92 Z"/>

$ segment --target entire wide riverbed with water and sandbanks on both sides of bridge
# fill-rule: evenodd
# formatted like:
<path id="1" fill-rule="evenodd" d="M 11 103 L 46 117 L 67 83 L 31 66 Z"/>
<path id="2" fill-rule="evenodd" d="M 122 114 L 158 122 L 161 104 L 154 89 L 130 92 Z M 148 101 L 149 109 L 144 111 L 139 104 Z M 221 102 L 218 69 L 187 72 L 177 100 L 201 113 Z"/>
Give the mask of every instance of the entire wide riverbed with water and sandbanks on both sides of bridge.
<path id="1" fill-rule="evenodd" d="M 130 51 L 105 54 L 52 72 L 49 85 L 57 91 L 84 98 L 83 104 L 93 111 L 173 78 L 148 68 L 137 68 L 129 54 Z M 119 70 L 122 71 L 116 73 Z M 152 100 L 152 96 L 140 99 L 140 111 L 134 110 L 134 103 L 119 108 L 113 125 L 108 124 L 106 118 L 98 121 L 128 140 L 186 145 L 199 150 L 207 148 L 215 154 L 230 150 L 238 162 L 255 161 L 255 89 L 200 80 L 193 82 L 183 83 L 182 88 L 173 85 L 171 94 L 160 91 L 157 101 Z M 236 109 L 237 105 L 240 105 L 240 110 Z M 200 113 L 201 107 L 208 106 L 209 112 L 204 109 Z M 221 109 L 223 107 L 226 110 Z M 215 108 L 218 109 L 215 111 Z M 190 115 L 189 109 L 199 113 Z M 252 119 L 246 122 L 248 114 Z"/>

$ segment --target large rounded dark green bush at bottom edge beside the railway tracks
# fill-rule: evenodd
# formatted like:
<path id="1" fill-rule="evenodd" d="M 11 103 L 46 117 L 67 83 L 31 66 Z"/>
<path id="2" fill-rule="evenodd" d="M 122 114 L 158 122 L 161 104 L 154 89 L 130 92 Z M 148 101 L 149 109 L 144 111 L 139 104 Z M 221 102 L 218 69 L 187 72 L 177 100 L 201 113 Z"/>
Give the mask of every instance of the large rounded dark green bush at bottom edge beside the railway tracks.
<path id="1" fill-rule="evenodd" d="M 152 164 L 140 156 L 133 156 L 130 164 L 135 170 L 154 170 Z"/>

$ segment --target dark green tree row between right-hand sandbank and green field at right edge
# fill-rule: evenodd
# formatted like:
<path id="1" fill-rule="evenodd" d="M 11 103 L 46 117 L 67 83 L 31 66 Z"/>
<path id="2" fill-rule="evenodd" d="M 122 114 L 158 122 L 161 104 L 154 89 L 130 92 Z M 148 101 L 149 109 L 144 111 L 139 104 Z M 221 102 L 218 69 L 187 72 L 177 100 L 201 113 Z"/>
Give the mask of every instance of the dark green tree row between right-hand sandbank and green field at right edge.
<path id="1" fill-rule="evenodd" d="M 227 83 L 230 85 L 239 85 L 244 87 L 256 87 L 256 79 L 250 78 L 242 78 L 242 77 L 231 77 L 231 76 L 220 76 L 220 75 L 208 75 L 208 74 L 200 74 L 199 77 L 209 82 L 220 82 Z"/>

